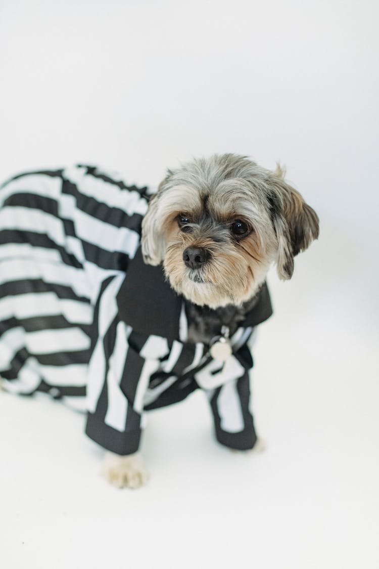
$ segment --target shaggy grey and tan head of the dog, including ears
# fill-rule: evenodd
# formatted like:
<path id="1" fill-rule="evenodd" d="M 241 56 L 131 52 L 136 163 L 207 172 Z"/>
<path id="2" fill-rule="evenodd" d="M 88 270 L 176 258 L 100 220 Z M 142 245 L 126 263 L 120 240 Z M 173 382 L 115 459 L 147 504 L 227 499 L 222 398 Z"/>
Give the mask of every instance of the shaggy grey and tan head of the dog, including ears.
<path id="1" fill-rule="evenodd" d="M 294 255 L 318 237 L 301 195 L 244 156 L 214 155 L 168 171 L 142 226 L 142 252 L 171 286 L 211 308 L 255 294 L 273 262 L 289 279 Z"/>

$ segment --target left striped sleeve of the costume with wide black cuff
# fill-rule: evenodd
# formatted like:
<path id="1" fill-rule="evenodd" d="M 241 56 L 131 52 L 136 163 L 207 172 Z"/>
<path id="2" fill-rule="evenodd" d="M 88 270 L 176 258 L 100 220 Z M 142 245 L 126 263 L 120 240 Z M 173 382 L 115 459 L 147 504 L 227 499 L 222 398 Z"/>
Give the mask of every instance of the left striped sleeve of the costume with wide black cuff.
<path id="1" fill-rule="evenodd" d="M 95 306 L 86 434 L 107 450 L 128 455 L 138 450 L 143 397 L 168 347 L 163 338 L 142 336 L 119 319 L 116 294 L 123 278 L 106 279 Z"/>

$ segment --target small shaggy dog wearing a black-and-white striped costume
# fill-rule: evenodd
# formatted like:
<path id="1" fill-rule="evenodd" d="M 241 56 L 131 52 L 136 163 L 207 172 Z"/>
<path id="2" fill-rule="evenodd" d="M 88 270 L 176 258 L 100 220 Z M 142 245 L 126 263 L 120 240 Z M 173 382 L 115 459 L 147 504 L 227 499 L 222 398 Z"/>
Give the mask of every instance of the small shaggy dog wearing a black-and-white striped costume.
<path id="1" fill-rule="evenodd" d="M 103 475 L 136 488 L 145 411 L 202 389 L 219 443 L 261 446 L 251 344 L 272 314 L 266 274 L 290 279 L 319 220 L 280 166 L 213 155 L 157 190 L 94 166 L 15 176 L 0 189 L 0 373 L 87 413 Z"/>

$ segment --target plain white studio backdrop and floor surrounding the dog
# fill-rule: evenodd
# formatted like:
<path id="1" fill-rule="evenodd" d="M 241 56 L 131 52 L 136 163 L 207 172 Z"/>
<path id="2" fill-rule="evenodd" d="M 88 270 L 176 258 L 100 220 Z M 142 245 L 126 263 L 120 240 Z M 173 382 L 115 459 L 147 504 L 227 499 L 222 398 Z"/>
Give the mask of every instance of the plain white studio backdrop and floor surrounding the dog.
<path id="1" fill-rule="evenodd" d="M 320 217 L 252 374 L 261 455 L 216 445 L 201 393 L 149 414 L 137 492 L 84 418 L 0 394 L 7 568 L 378 566 L 378 5 L 2 0 L 0 178 L 69 163 L 157 185 L 249 155 Z"/>

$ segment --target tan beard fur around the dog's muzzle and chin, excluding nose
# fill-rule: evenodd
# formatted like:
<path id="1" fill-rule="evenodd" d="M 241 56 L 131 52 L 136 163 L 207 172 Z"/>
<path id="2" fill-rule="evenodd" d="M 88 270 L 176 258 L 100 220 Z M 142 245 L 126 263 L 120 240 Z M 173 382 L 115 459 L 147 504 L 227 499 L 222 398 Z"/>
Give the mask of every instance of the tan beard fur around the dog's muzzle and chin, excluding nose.
<path id="1" fill-rule="evenodd" d="M 185 266 L 182 241 L 168 246 L 164 270 L 172 288 L 190 302 L 210 308 L 239 306 L 251 298 L 264 281 L 270 263 L 252 257 L 242 246 L 206 245 L 211 258 L 199 269 Z M 205 243 L 197 243 L 197 246 L 205 246 Z"/>

